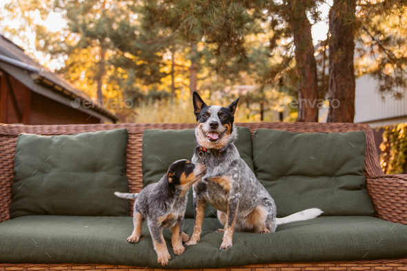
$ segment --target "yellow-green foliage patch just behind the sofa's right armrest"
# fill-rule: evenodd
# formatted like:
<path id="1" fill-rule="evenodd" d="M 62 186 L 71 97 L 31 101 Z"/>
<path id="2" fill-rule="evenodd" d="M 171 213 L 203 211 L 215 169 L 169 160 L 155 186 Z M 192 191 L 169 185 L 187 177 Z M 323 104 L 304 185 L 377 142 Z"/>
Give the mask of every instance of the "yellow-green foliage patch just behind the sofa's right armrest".
<path id="1" fill-rule="evenodd" d="M 386 174 L 404 173 L 407 154 L 407 123 L 398 126 L 387 126 L 380 144 L 381 169 Z"/>

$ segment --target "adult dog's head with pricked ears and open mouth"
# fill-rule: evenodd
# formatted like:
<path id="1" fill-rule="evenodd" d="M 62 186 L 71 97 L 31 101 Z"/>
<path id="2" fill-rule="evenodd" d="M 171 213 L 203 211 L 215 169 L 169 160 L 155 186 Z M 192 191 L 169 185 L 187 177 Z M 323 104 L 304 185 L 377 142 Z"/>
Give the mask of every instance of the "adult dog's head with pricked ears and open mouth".
<path id="1" fill-rule="evenodd" d="M 237 107 L 237 98 L 229 106 L 207 106 L 197 92 L 192 94 L 194 113 L 197 117 L 195 137 L 197 143 L 207 149 L 221 149 L 235 140 L 233 121 Z"/>

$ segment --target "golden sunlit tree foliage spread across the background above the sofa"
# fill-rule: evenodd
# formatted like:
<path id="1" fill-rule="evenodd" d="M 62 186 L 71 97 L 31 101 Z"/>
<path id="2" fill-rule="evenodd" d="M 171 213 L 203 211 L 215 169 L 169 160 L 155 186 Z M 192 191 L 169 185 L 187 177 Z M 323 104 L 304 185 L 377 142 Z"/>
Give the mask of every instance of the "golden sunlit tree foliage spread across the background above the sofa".
<path id="1" fill-rule="evenodd" d="M 301 78 L 295 57 L 301 46 L 295 48 L 293 35 L 301 29 L 293 26 L 304 14 L 311 23 L 320 21 L 321 3 L 19 0 L 3 9 L 0 25 L 25 43 L 27 33 L 35 33 L 43 57 L 62 60 L 64 66 L 57 72 L 91 97 L 97 90 L 106 99 L 122 95 L 147 112 L 157 104 L 164 106 L 164 101 L 183 103 L 190 97 L 192 62 L 197 66 L 197 90 L 208 97 L 234 85 L 258 86 L 260 91 L 239 93 L 245 106 L 241 119 L 246 121 L 272 109 L 281 93 L 297 96 L 293 86 L 301 86 Z M 407 88 L 407 28 L 402 26 L 407 0 L 358 1 L 357 5 L 355 17 L 349 20 L 355 24 L 357 74 L 372 72 L 380 79 L 381 93 L 401 97 Z M 38 23 L 50 12 L 61 14 L 66 29 L 51 32 Z M 8 26 L 8 19 L 22 19 L 23 24 Z M 325 57 L 317 59 L 321 98 L 328 93 L 329 42 L 329 38 L 322 41 L 317 52 Z M 223 94 L 221 99 L 235 94 Z"/>

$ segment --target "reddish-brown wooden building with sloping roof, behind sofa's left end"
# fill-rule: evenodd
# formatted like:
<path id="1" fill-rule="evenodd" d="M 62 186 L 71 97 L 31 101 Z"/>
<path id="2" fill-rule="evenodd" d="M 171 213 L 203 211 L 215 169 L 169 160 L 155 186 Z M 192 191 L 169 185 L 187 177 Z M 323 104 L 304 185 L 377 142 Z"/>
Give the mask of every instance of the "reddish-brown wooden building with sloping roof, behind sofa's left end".
<path id="1" fill-rule="evenodd" d="M 0 34 L 0 123 L 115 123 L 117 117 Z"/>

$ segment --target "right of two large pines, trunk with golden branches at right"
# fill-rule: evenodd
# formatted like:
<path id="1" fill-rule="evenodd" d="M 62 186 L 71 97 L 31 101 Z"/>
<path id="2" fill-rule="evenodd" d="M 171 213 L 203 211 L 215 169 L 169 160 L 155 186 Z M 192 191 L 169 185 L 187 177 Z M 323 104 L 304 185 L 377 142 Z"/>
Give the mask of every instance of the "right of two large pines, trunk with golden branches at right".
<path id="1" fill-rule="evenodd" d="M 402 21 L 406 7 L 407 1 L 334 0 L 328 41 L 328 99 L 339 100 L 340 106 L 329 109 L 328 122 L 353 122 L 355 65 L 357 74 L 370 72 L 378 79 L 383 96 L 402 97 L 407 87 L 407 39 Z"/>

